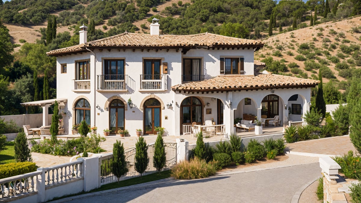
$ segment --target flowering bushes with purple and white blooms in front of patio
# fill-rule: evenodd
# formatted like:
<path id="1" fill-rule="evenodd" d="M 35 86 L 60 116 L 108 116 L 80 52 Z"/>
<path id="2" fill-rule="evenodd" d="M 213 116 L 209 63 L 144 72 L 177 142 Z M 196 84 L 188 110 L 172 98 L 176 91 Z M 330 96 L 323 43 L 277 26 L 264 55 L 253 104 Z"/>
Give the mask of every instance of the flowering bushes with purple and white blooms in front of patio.
<path id="1" fill-rule="evenodd" d="M 91 134 L 90 137 L 81 137 L 78 139 L 70 139 L 68 141 L 58 140 L 57 144 L 51 144 L 49 139 L 31 140 L 30 148 L 32 152 L 39 152 L 42 154 L 51 154 L 55 156 L 74 156 L 84 152 L 84 148 L 88 152 L 98 153 L 104 152 L 100 148 L 101 142 L 104 142 L 105 138 L 100 137 L 99 134 Z"/>

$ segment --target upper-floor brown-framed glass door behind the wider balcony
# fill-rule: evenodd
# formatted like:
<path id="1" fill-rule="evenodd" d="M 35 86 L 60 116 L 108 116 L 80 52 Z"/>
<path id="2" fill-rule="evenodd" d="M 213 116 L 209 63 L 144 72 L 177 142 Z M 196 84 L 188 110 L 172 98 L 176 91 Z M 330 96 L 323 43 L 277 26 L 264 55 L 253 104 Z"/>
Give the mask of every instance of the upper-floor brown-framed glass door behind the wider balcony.
<path id="1" fill-rule="evenodd" d="M 105 79 L 124 79 L 124 59 L 104 60 Z"/>

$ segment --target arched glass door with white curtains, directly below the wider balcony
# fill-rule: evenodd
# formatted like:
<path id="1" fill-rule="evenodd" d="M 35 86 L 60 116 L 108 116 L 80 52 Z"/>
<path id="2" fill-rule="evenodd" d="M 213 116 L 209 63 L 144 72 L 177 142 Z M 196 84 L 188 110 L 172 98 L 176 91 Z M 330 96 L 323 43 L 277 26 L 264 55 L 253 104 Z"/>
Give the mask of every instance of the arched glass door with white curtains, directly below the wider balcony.
<path id="1" fill-rule="evenodd" d="M 124 130 L 124 121 L 124 102 L 114 99 L 109 105 L 109 130 L 112 130 L 110 133 Z"/>

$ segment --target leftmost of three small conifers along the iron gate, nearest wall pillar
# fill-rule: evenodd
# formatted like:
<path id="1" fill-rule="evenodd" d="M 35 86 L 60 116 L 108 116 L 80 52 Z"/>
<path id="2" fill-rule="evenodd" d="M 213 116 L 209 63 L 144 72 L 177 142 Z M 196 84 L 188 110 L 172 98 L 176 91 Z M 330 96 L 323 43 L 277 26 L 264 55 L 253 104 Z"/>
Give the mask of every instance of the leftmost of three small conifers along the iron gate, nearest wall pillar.
<path id="1" fill-rule="evenodd" d="M 123 143 L 117 140 L 116 143 L 113 144 L 112 173 L 118 178 L 118 184 L 119 178 L 124 176 L 128 170 Z"/>

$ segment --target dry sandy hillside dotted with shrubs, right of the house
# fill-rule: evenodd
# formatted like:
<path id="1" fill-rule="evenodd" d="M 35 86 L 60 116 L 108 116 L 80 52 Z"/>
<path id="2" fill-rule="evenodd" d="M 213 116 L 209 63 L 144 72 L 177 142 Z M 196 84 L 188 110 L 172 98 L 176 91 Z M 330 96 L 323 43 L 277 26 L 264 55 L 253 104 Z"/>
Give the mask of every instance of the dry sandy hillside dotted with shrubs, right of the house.
<path id="1" fill-rule="evenodd" d="M 309 22 L 307 23 L 309 24 Z M 263 39 L 265 46 L 255 53 L 255 59 L 262 60 L 269 56 L 273 57 L 274 60 L 283 59 L 286 61 L 287 68 L 288 64 L 294 62 L 308 77 L 314 78 L 315 75 L 318 75 L 319 70 L 316 67 L 307 67 L 305 70 L 305 61 L 295 59 L 297 55 L 302 55 L 306 61 L 313 60 L 316 63 L 327 65 L 336 79 L 344 81 L 345 78 L 338 75 L 339 69 L 335 68 L 337 61 L 345 61 L 351 67 L 355 66 L 355 63 L 352 63 L 351 54 L 344 53 L 340 46 L 342 44 L 360 46 L 361 27 L 359 26 L 361 26 L 361 17 L 355 17 L 277 34 Z M 359 27 L 359 31 L 356 30 L 355 32 L 353 28 L 357 27 Z M 299 50 L 305 44 L 308 44 L 309 48 Z M 302 57 L 299 58 L 302 59 Z M 290 68 L 286 74 L 302 77 L 301 74 L 291 73 Z M 328 82 L 328 79 L 324 78 L 323 82 Z"/>

